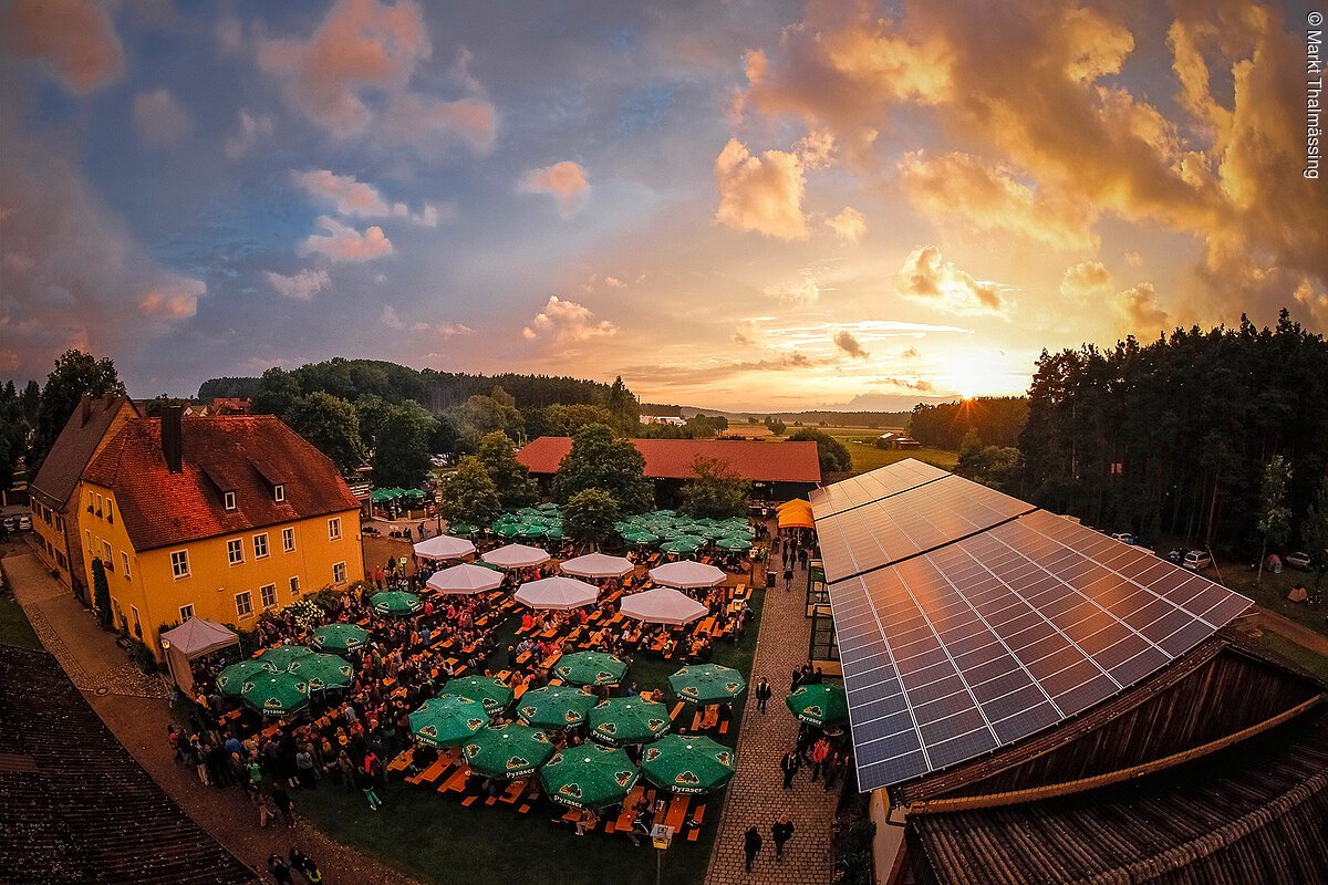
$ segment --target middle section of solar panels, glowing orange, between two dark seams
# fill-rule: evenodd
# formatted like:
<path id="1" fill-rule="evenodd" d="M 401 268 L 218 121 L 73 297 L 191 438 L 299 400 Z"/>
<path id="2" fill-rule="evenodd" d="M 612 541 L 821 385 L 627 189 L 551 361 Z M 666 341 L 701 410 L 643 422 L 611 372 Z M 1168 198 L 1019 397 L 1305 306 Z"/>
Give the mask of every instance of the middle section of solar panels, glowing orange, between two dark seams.
<path id="1" fill-rule="evenodd" d="M 818 516 L 826 580 L 842 581 L 916 556 L 1031 510 L 1032 504 L 946 474 L 888 498 Z"/>

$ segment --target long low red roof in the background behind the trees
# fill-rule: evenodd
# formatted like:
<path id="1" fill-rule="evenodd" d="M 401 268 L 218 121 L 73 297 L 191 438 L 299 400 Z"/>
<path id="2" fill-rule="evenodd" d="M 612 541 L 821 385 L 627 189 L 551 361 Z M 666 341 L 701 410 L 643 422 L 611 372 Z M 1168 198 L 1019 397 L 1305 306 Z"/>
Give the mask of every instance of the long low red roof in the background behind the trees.
<path id="1" fill-rule="evenodd" d="M 752 439 L 633 439 L 651 479 L 692 479 L 697 458 L 713 458 L 742 479 L 768 483 L 819 483 L 821 460 L 814 442 Z M 540 437 L 517 452 L 533 474 L 552 474 L 572 450 L 571 437 Z"/>

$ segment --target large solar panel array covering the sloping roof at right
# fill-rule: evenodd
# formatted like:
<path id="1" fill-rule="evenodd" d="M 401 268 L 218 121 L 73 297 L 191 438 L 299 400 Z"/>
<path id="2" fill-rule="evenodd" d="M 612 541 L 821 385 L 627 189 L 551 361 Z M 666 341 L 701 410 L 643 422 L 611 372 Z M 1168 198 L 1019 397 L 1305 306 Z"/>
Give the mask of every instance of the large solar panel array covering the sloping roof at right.
<path id="1" fill-rule="evenodd" d="M 830 601 L 863 789 L 1082 713 L 1250 605 L 1149 551 L 967 486 L 932 480 L 887 498 L 907 504 L 887 508 L 887 523 L 861 504 L 823 520 L 839 539 L 822 537 L 827 576 L 849 575 Z M 880 540 L 878 528 L 907 540 Z"/>

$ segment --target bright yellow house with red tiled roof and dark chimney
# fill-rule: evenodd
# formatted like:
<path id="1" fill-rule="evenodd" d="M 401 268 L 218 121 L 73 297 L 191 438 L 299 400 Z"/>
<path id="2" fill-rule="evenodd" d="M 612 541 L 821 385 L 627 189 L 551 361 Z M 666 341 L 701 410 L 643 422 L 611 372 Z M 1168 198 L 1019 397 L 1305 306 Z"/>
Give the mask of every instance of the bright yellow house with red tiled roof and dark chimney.
<path id="1" fill-rule="evenodd" d="M 129 421 L 82 476 L 88 586 L 158 655 L 191 616 L 258 616 L 364 579 L 360 504 L 319 450 L 271 415 Z M 96 592 L 93 593 L 96 596 Z"/>

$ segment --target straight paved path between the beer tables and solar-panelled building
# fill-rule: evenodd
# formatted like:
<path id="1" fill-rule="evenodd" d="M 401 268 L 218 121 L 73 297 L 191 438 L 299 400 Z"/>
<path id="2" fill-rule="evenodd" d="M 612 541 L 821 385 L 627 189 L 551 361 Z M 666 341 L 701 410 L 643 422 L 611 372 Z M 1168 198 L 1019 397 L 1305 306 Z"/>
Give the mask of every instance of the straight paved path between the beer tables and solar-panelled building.
<path id="1" fill-rule="evenodd" d="M 826 885 L 830 881 L 830 825 L 838 791 L 826 792 L 799 771 L 793 789 L 784 789 L 780 758 L 797 743 L 798 723 L 784 706 L 793 669 L 807 659 L 811 621 L 806 617 L 806 572 L 798 571 L 793 589 L 780 586 L 765 593 L 761 633 L 757 637 L 752 682 L 770 679 L 774 695 L 762 716 L 756 693 L 748 689 L 738 739 L 738 771 L 724 803 L 720 832 L 705 877 L 709 885 L 760 882 L 766 885 Z M 770 824 L 782 812 L 797 828 L 784 848 L 784 862 L 774 860 Z M 744 870 L 742 835 L 748 827 L 761 831 L 764 843 L 752 872 Z"/>

